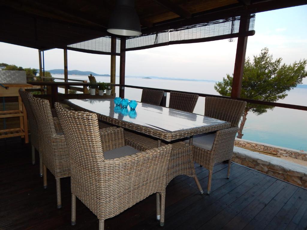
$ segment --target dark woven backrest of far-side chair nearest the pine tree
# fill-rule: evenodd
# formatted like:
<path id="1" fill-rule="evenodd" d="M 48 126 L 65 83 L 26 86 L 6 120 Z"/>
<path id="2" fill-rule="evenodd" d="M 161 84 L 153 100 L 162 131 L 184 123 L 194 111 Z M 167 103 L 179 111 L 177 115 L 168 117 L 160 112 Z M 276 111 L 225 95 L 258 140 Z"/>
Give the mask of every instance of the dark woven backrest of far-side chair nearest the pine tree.
<path id="1" fill-rule="evenodd" d="M 216 97 L 205 98 L 205 116 L 228 121 L 231 123 L 231 127 L 239 125 L 245 107 L 246 102 L 239 100 Z"/>

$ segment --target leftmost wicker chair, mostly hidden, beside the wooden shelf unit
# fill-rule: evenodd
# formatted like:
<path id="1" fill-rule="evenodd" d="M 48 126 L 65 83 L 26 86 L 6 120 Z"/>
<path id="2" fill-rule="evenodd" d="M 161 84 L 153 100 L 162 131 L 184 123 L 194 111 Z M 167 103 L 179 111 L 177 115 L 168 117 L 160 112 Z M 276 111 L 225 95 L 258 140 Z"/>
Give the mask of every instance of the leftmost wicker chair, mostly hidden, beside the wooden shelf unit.
<path id="1" fill-rule="evenodd" d="M 29 98 L 33 98 L 31 93 L 24 91 L 23 89 L 19 89 L 19 95 L 21 97 L 22 103 L 25 105 L 25 110 L 27 112 L 27 117 L 30 125 L 31 131 L 31 144 L 32 144 L 32 164 L 35 164 L 35 149 L 39 152 L 39 137 L 37 132 L 37 125 L 34 119 L 33 111 L 30 107 Z M 41 155 L 40 159 L 40 174 L 43 175 L 43 167 L 41 164 Z"/>

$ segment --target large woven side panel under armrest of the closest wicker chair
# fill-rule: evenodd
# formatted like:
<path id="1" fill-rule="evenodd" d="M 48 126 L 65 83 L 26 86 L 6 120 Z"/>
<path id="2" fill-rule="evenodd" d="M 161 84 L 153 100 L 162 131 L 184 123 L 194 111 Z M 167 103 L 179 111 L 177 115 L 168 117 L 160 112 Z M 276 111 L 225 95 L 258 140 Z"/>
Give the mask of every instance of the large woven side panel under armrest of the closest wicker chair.
<path id="1" fill-rule="evenodd" d="M 98 194 L 102 211 L 107 209 L 108 216 L 115 216 L 153 193 L 165 192 L 171 151 L 168 144 L 102 161 Z"/>

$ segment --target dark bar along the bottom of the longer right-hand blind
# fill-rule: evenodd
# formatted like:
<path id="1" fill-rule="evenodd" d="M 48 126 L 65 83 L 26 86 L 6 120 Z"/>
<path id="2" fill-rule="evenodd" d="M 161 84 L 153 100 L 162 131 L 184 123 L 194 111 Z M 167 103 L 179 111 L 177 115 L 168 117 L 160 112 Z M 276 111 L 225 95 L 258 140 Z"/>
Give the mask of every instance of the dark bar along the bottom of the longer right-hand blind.
<path id="1" fill-rule="evenodd" d="M 174 44 L 190 44 L 190 43 L 198 43 L 198 42 L 217 41 L 217 40 L 223 40 L 223 39 L 228 39 L 228 38 L 235 38 L 235 37 L 239 37 L 239 36 L 253 36 L 253 35 L 255 35 L 255 30 L 250 30 L 250 31 L 247 31 L 243 34 L 232 33 L 232 34 L 225 34 L 225 35 L 212 36 L 212 37 L 204 37 L 204 38 L 196 38 L 196 39 L 188 39 L 188 40 L 178 40 L 178 41 L 169 41 L 169 42 L 163 42 L 163 43 L 158 43 L 158 44 L 153 44 L 153 45 L 127 48 L 127 49 L 125 49 L 125 51 L 149 49 L 149 48 L 165 46 L 165 45 L 174 45 Z"/>

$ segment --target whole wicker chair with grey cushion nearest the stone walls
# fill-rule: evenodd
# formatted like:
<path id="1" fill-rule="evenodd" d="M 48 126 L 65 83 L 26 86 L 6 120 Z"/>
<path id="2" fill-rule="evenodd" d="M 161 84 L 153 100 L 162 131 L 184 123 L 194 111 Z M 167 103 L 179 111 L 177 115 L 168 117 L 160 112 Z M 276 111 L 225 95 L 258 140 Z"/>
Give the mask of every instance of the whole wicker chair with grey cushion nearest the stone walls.
<path id="1" fill-rule="evenodd" d="M 185 141 L 187 143 L 189 141 L 193 142 L 192 152 L 194 161 L 206 167 L 209 171 L 208 194 L 211 190 L 212 171 L 215 163 L 229 160 L 227 178 L 230 176 L 235 135 L 245 107 L 246 102 L 243 101 L 206 97 L 205 116 L 228 121 L 231 123 L 231 128 L 215 133 L 197 135 L 192 140 Z"/>

